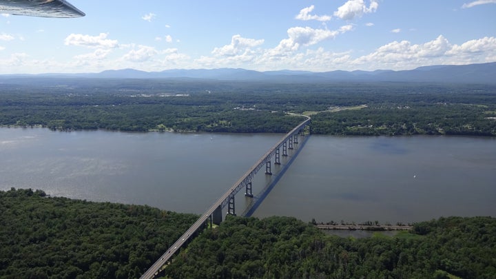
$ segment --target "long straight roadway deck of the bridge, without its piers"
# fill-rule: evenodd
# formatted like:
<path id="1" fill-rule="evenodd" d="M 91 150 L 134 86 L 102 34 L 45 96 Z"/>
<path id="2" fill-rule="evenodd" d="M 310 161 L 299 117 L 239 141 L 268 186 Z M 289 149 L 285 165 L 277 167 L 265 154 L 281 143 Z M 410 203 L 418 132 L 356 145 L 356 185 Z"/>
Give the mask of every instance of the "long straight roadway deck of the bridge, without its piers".
<path id="1" fill-rule="evenodd" d="M 158 273 L 158 271 L 167 263 L 167 261 L 182 247 L 189 238 L 192 237 L 193 234 L 200 229 L 200 227 L 203 227 L 205 223 L 207 223 L 207 220 L 210 216 L 218 212 L 218 210 L 221 210 L 227 203 L 229 203 L 229 200 L 231 198 L 234 198 L 236 194 L 242 189 L 243 187 L 246 187 L 248 183 L 251 183 L 251 178 L 255 176 L 255 174 L 260 170 L 260 168 L 263 165 L 267 165 L 267 162 L 270 163 L 271 157 L 276 154 L 276 150 L 280 149 L 282 145 L 285 145 L 285 143 L 289 140 L 289 138 L 298 135 L 298 133 L 304 129 L 305 126 L 309 125 L 311 118 L 309 116 L 306 116 L 307 119 L 300 123 L 298 126 L 296 126 L 291 132 L 287 133 L 286 136 L 284 136 L 276 145 L 274 145 L 267 153 L 265 153 L 260 160 L 251 167 L 245 175 L 241 176 L 241 178 L 234 183 L 234 185 L 229 188 L 223 196 L 221 196 L 211 207 L 205 211 L 205 213 L 196 220 L 196 222 L 185 231 L 185 233 L 174 242 L 174 244 L 165 251 L 165 253 L 158 259 L 156 262 L 152 265 L 152 267 L 149 267 L 145 273 L 141 276 L 141 279 L 149 279 L 149 278 L 154 278 L 154 276 Z M 222 213 L 220 213 L 222 214 Z"/>

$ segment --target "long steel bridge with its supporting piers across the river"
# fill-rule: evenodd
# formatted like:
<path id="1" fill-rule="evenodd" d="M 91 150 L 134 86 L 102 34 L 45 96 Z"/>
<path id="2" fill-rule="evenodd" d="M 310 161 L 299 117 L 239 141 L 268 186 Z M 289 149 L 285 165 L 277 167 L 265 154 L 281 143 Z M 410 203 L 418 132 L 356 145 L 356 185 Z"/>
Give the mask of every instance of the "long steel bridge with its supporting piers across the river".
<path id="1" fill-rule="evenodd" d="M 288 156 L 287 150 L 293 149 L 294 144 L 298 144 L 298 135 L 302 134 L 302 131 L 306 127 L 309 127 L 311 118 L 308 116 L 306 120 L 296 126 L 291 132 L 287 133 L 276 145 L 273 145 L 267 153 L 265 153 L 256 163 L 253 165 L 245 175 L 234 183 L 232 187 L 227 189 L 227 191 L 220 196 L 220 198 L 213 204 L 205 213 L 196 220 L 196 222 L 185 231 L 185 233 L 174 242 L 174 244 L 165 251 L 165 253 L 152 265 L 149 269 L 143 273 L 142 279 L 154 278 L 161 267 L 163 267 L 169 259 L 183 247 L 190 238 L 196 234 L 199 229 L 205 227 L 205 224 L 210 223 L 210 225 L 219 225 L 222 222 L 223 208 L 227 205 L 227 214 L 236 215 L 236 206 L 234 202 L 234 196 L 245 189 L 245 196 L 253 198 L 251 180 L 257 174 L 257 172 L 265 166 L 265 174 L 271 175 L 271 158 L 274 158 L 274 164 L 280 165 L 280 156 Z M 282 154 L 281 154 L 282 149 Z"/>

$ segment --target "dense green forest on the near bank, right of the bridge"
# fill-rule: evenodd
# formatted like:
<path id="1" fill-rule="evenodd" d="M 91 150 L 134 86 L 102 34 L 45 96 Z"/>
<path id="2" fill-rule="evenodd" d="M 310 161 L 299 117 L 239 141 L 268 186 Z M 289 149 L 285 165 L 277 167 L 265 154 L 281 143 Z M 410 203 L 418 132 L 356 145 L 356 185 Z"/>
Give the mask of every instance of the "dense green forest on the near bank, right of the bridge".
<path id="1" fill-rule="evenodd" d="M 496 278 L 496 219 L 440 218 L 395 237 L 324 235 L 295 218 L 228 218 L 166 278 Z"/>

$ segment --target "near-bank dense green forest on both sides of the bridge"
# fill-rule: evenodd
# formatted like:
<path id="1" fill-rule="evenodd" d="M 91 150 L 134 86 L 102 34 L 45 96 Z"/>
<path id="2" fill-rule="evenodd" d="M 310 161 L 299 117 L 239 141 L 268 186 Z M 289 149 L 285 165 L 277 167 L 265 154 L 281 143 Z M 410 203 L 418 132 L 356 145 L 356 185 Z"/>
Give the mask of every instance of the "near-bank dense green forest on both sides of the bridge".
<path id="1" fill-rule="evenodd" d="M 0 278 L 138 278 L 198 216 L 147 206 L 0 192 Z M 496 218 L 416 223 L 339 238 L 295 218 L 229 216 L 166 278 L 496 278 Z M 455 277 L 457 276 L 457 277 Z"/>

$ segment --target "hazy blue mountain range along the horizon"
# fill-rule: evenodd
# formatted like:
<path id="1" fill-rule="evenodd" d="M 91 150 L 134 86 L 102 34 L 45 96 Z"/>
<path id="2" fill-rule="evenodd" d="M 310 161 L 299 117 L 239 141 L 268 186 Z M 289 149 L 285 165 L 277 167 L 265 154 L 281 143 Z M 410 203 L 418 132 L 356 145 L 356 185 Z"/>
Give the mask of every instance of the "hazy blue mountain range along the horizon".
<path id="1" fill-rule="evenodd" d="M 11 76 L 12 75 L 3 75 Z M 23 75 L 27 76 L 27 75 Z M 496 83 L 496 62 L 470 65 L 433 65 L 414 70 L 367 71 L 268 71 L 221 68 L 213 70 L 106 70 L 94 74 L 37 74 L 28 76 L 84 77 L 106 79 L 214 79 L 222 81 L 276 81 L 285 83 L 356 82 L 441 82 L 441 83 Z M 0 76 L 1 77 L 1 76 Z"/>

